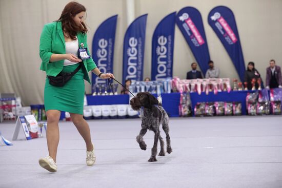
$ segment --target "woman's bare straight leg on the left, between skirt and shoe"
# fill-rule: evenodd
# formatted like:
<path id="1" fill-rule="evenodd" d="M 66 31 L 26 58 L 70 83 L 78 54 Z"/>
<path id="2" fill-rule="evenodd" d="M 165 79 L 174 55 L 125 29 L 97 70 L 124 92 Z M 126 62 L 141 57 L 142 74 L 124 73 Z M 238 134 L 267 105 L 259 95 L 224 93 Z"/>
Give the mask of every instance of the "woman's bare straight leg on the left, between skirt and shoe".
<path id="1" fill-rule="evenodd" d="M 58 110 L 48 110 L 47 116 L 47 145 L 49 156 L 56 162 L 57 149 L 59 144 L 59 117 L 61 112 Z"/>

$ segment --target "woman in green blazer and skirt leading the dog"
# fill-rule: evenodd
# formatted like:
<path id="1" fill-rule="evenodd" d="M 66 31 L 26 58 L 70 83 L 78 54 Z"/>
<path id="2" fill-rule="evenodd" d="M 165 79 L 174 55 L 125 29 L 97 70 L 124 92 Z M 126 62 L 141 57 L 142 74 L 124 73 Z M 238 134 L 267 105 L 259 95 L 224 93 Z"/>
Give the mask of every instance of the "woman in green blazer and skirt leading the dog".
<path id="1" fill-rule="evenodd" d="M 114 78 L 114 76 L 100 72 L 89 55 L 85 15 L 86 9 L 83 5 L 70 2 L 65 6 L 57 21 L 44 26 L 40 37 L 39 55 L 42 59 L 40 69 L 46 71 L 47 76 L 57 76 L 60 72 L 74 72 L 81 65 L 78 72 L 63 87 L 50 85 L 50 78 L 46 78 L 44 101 L 48 124 L 46 134 L 49 156 L 39 159 L 39 164 L 50 172 L 57 171 L 60 111 L 70 113 L 72 122 L 84 138 L 87 165 L 93 165 L 96 159 L 90 129 L 83 118 L 84 79 L 90 83 L 88 71 L 92 71 L 102 79 Z"/>

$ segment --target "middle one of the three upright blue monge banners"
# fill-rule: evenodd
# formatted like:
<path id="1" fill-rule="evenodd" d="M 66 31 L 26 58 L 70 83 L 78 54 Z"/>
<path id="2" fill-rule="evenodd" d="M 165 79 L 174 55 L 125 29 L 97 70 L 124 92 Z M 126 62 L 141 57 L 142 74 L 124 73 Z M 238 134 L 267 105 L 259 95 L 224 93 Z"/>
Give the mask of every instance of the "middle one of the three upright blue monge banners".
<path id="1" fill-rule="evenodd" d="M 143 80 L 143 61 L 147 15 L 137 17 L 128 27 L 124 38 L 123 83 L 127 79 Z"/>

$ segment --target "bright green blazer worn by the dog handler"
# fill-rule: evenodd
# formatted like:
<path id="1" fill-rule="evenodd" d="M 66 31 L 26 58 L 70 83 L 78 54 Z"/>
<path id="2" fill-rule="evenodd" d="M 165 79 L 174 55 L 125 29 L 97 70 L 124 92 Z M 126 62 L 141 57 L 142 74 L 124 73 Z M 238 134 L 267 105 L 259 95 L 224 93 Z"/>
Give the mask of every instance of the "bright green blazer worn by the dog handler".
<path id="1" fill-rule="evenodd" d="M 81 44 L 83 43 L 90 55 L 87 45 L 87 35 L 79 32 L 76 36 L 79 48 L 82 48 Z M 47 75 L 57 76 L 63 70 L 65 60 L 50 62 L 50 57 L 53 53 L 66 54 L 66 44 L 62 29 L 62 22 L 52 22 L 46 24 L 41 33 L 39 45 L 39 55 L 42 59 L 40 70 L 45 71 Z M 92 57 L 90 59 L 83 60 L 83 65 L 84 79 L 91 83 L 88 72 L 95 69 L 97 66 Z"/>

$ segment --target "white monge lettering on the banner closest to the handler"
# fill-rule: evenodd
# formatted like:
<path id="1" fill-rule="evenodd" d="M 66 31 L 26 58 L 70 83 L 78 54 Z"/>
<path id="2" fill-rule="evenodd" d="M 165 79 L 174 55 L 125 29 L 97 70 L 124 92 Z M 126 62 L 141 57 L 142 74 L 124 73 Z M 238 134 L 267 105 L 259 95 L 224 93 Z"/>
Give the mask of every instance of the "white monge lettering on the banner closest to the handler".
<path id="1" fill-rule="evenodd" d="M 108 51 L 107 51 L 107 47 L 108 47 L 108 40 L 106 40 L 105 38 L 101 38 L 98 41 L 98 50 L 97 50 L 97 58 L 98 58 L 98 65 L 97 67 L 99 68 L 99 70 L 103 73 L 107 73 L 107 62 L 108 62 Z M 106 80 L 103 80 L 99 77 L 96 77 L 95 80 L 96 83 L 106 83 Z"/>

